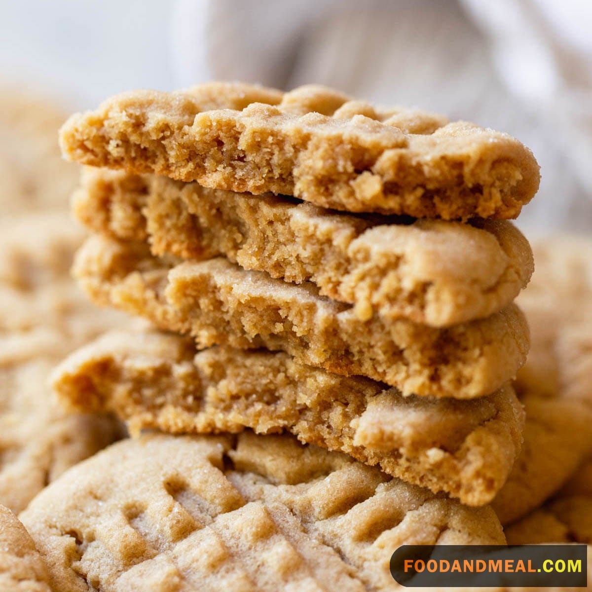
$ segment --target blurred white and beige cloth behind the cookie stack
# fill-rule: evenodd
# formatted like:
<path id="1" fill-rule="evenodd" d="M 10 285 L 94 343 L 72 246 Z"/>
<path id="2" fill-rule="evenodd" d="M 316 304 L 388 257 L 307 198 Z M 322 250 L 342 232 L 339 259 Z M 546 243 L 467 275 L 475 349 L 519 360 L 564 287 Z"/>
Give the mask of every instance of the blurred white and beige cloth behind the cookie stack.
<path id="1" fill-rule="evenodd" d="M 179 86 L 334 86 L 508 131 L 535 153 L 523 227 L 592 235 L 592 2 L 178 0 Z"/>

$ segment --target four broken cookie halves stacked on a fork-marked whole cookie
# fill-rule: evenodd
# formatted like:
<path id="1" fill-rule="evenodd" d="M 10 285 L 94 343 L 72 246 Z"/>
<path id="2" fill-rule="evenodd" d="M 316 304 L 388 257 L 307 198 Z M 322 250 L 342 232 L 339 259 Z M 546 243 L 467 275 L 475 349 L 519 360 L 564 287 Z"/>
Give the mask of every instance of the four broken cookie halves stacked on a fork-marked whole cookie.
<path id="1" fill-rule="evenodd" d="M 22 514 L 54 585 L 382 590 L 404 543 L 504 542 L 487 504 L 525 423 L 533 262 L 506 220 L 538 189 L 525 146 L 237 83 L 115 96 L 61 143 L 94 167 L 76 278 L 152 326 L 54 373 L 133 436 Z"/>

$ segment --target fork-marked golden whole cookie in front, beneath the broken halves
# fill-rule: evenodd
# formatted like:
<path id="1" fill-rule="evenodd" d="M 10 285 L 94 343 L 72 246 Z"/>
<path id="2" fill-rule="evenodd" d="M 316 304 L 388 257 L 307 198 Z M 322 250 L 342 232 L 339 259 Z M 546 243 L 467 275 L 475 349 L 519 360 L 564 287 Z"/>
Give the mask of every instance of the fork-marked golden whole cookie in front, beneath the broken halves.
<path id="1" fill-rule="evenodd" d="M 123 440 L 21 520 L 62 592 L 392 590 L 388 562 L 404 543 L 505 540 L 489 507 L 252 433 Z"/>

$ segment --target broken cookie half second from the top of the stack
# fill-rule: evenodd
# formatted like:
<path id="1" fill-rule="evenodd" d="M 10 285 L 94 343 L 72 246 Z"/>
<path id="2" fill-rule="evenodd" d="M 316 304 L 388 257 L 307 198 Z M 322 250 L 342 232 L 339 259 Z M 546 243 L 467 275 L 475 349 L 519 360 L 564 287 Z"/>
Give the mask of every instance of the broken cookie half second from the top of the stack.
<path id="1" fill-rule="evenodd" d="M 153 255 L 223 255 L 354 305 L 356 316 L 449 326 L 510 304 L 533 272 L 511 223 L 340 214 L 292 198 L 207 189 L 154 175 L 86 169 L 73 200 L 89 229 L 148 240 Z"/>

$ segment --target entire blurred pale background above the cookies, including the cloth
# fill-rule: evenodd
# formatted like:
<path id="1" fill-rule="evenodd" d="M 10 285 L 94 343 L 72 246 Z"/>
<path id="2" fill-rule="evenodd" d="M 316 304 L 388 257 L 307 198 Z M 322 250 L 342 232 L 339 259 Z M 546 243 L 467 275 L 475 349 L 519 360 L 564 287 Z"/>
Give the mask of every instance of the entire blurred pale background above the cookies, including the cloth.
<path id="1" fill-rule="evenodd" d="M 68 110 L 208 79 L 318 82 L 529 146 L 519 225 L 592 236 L 589 0 L 0 0 L 0 80 Z"/>

